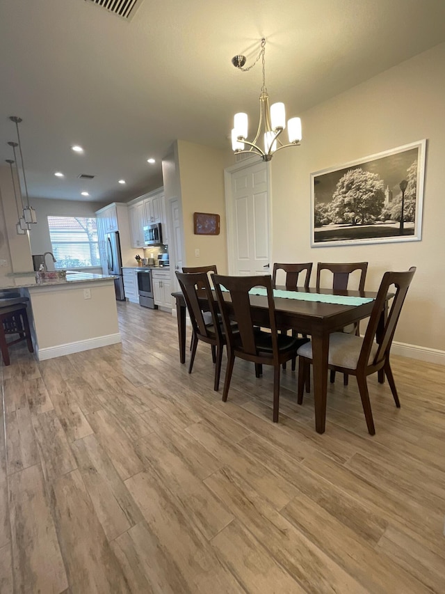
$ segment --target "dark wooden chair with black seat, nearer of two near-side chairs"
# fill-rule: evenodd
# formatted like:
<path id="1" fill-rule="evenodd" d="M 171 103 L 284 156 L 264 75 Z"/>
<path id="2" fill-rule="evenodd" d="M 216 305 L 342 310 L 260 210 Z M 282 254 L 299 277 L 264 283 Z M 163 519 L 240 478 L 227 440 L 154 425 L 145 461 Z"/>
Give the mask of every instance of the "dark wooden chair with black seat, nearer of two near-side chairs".
<path id="1" fill-rule="evenodd" d="M 309 338 L 296 338 L 279 334 L 275 320 L 272 279 L 270 276 L 221 276 L 213 275 L 213 283 L 218 299 L 218 307 L 223 315 L 223 325 L 227 338 L 227 370 L 224 380 L 223 401 L 229 393 L 230 380 L 234 369 L 235 357 L 252 361 L 255 366 L 272 365 L 273 379 L 273 421 L 277 423 L 280 401 L 280 373 L 284 361 L 296 356 L 298 347 L 309 341 Z M 261 330 L 254 323 L 254 305 L 250 300 L 265 299 L 249 295 L 252 288 L 265 288 L 268 302 L 268 313 L 264 326 L 269 331 Z M 256 321 L 256 320 L 255 320 Z M 236 322 L 236 328 L 233 326 Z"/>

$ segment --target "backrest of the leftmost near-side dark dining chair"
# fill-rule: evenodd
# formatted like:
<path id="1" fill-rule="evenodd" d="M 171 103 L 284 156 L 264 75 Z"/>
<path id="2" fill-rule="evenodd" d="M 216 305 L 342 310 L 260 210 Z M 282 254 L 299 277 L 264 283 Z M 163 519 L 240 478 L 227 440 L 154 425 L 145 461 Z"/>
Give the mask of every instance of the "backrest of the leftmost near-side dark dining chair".
<path id="1" fill-rule="evenodd" d="M 212 331 L 221 336 L 220 323 L 207 272 L 176 272 L 182 294 L 186 301 L 193 331 L 197 336 L 209 337 L 209 326 L 204 320 L 203 310 L 211 313 Z"/>

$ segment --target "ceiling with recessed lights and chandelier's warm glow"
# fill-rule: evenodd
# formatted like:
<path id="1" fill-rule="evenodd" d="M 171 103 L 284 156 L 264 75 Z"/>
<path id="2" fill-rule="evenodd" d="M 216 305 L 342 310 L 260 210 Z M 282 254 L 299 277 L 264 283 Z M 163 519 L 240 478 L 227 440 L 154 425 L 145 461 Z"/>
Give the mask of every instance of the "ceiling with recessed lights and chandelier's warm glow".
<path id="1" fill-rule="evenodd" d="M 261 65 L 231 59 L 252 63 L 261 37 L 271 100 L 298 116 L 445 41 L 444 22 L 444 0 L 140 0 L 129 20 L 0 0 L 0 163 L 20 116 L 31 197 L 128 201 L 162 185 L 175 139 L 225 148 L 236 111 L 257 122 Z"/>

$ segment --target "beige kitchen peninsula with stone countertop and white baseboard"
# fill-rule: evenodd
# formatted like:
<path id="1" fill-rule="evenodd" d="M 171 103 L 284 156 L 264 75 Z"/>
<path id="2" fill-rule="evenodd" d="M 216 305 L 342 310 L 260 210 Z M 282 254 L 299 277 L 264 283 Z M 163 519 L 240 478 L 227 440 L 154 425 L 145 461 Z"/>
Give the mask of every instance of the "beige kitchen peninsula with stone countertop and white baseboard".
<path id="1" fill-rule="evenodd" d="M 114 276 L 68 271 L 65 278 L 35 272 L 0 277 L 0 290 L 29 297 L 35 356 L 40 360 L 120 343 Z"/>

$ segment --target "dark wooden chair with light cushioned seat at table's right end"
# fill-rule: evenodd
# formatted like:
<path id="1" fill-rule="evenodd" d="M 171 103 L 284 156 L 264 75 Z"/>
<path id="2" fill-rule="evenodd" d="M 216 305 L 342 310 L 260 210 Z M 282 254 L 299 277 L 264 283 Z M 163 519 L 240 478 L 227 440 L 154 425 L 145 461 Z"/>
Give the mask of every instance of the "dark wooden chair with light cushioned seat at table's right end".
<path id="1" fill-rule="evenodd" d="M 328 366 L 331 370 L 341 371 L 357 377 L 366 425 L 371 435 L 375 434 L 375 428 L 366 383 L 368 375 L 381 369 L 385 370 L 396 407 L 400 408 L 401 406 L 389 363 L 389 353 L 398 318 L 414 272 L 416 272 L 414 266 L 407 272 L 385 272 L 363 337 L 344 332 L 334 332 L 329 337 Z M 385 316 L 387 295 L 393 286 L 395 287 L 395 295 L 388 308 L 384 327 L 377 336 L 382 316 Z M 378 338 L 379 343 L 375 342 L 376 338 Z M 302 345 L 298 350 L 298 357 L 298 404 L 302 404 L 307 370 L 312 362 L 312 344 Z"/>

